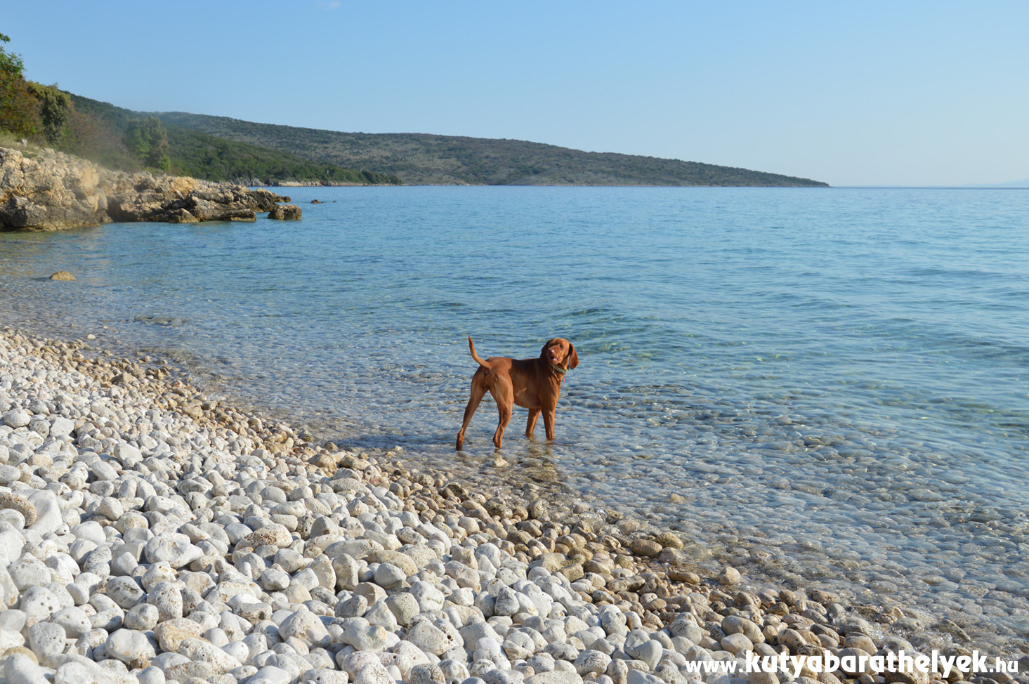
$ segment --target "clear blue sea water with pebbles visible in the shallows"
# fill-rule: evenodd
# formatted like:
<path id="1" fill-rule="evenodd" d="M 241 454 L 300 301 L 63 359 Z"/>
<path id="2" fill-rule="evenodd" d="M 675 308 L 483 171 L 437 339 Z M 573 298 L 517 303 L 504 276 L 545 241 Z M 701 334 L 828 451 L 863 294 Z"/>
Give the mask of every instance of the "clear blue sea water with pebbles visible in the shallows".
<path id="1" fill-rule="evenodd" d="M 1029 648 L 1029 190 L 278 191 L 301 221 L 0 233 L 0 324 L 677 531 L 757 585 Z M 469 335 L 484 358 L 572 341 L 553 443 L 517 408 L 496 452 L 487 398 L 455 452 Z"/>

